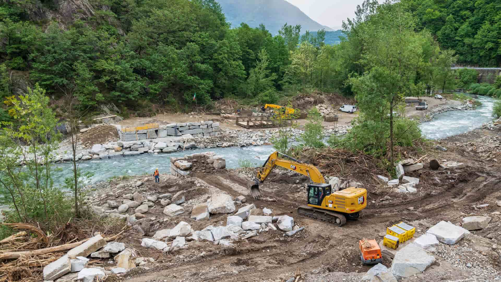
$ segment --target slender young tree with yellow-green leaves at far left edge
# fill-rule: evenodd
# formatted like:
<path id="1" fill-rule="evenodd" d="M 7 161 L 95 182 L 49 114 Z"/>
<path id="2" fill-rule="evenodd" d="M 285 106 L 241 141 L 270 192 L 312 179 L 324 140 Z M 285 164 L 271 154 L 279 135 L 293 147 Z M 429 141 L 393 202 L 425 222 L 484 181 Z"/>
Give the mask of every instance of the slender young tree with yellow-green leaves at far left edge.
<path id="1" fill-rule="evenodd" d="M 53 217 L 60 216 L 56 211 L 60 208 L 57 205 L 61 201 L 56 201 L 56 198 L 64 197 L 52 181 L 51 160 L 60 139 L 60 134 L 54 132 L 58 119 L 49 107 L 49 97 L 45 95 L 45 90 L 38 84 L 33 89 L 28 88 L 28 93 L 19 98 L 8 97 L 6 104 L 11 107 L 9 114 L 15 122 L 5 124 L 4 132 L 16 140 L 16 147 L 19 149 L 14 153 L 22 155 L 21 161 L 26 164 L 27 172 L 18 172 L 20 180 L 14 180 L 16 175 L 9 172 L 13 159 L 2 160 L 11 180 L 4 187 L 18 187 L 16 190 L 19 195 L 14 197 L 23 198 L 21 202 L 25 203 L 25 219 L 27 214 L 31 214 L 32 218 L 43 216 L 45 222 L 49 223 L 55 219 Z M 24 147 L 25 144 L 28 146 Z M 40 206 L 43 207 L 43 212 L 37 214 Z"/>

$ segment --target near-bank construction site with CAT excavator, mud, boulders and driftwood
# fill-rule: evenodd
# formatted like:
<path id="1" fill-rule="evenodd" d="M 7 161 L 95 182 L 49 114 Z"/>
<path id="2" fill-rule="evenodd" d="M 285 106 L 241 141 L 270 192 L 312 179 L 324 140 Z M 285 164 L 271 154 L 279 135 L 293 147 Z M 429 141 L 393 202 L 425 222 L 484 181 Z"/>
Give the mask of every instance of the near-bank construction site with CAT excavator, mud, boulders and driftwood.
<path id="1" fill-rule="evenodd" d="M 210 138 L 224 142 L 235 129 L 220 123 Z M 339 149 L 243 168 L 211 152 L 166 157 L 159 183 L 148 174 L 89 185 L 95 220 L 51 235 L 13 225 L 0 281 L 495 281 L 501 147 L 482 140 L 500 132 L 498 120 L 396 147 L 396 179 L 378 159 Z"/>

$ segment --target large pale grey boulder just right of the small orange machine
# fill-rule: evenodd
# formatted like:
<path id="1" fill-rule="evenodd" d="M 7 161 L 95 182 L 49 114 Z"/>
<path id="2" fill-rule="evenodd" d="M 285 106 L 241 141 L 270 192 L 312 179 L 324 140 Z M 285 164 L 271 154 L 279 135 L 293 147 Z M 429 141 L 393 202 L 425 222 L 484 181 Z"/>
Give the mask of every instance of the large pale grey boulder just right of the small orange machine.
<path id="1" fill-rule="evenodd" d="M 407 278 L 422 273 L 435 262 L 419 245 L 411 243 L 399 250 L 391 263 L 391 273 L 397 278 Z"/>

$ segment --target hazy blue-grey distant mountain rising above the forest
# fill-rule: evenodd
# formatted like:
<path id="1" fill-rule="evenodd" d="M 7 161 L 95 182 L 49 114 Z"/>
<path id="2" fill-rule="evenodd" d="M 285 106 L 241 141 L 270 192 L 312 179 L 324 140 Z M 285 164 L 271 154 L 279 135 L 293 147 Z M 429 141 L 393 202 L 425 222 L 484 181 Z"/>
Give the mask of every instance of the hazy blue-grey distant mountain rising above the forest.
<path id="1" fill-rule="evenodd" d="M 222 8 L 224 15 L 232 28 L 246 23 L 250 27 L 259 27 L 264 24 L 266 29 L 272 34 L 278 34 L 282 26 L 301 25 L 301 32 L 318 31 L 325 29 L 333 31 L 330 27 L 323 26 L 298 7 L 286 0 L 216 0 Z"/>

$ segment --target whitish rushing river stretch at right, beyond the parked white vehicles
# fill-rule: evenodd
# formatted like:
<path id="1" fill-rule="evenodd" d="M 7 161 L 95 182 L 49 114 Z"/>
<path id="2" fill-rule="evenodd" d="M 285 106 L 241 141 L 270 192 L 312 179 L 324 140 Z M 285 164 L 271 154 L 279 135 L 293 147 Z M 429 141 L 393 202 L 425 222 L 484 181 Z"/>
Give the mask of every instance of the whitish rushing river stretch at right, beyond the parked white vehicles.
<path id="1" fill-rule="evenodd" d="M 423 136 L 429 139 L 441 139 L 471 131 L 491 121 L 495 100 L 487 96 L 477 97 L 476 100 L 482 104 L 475 110 L 448 111 L 436 115 L 431 121 L 421 122 L 419 127 Z"/>

